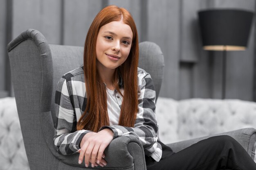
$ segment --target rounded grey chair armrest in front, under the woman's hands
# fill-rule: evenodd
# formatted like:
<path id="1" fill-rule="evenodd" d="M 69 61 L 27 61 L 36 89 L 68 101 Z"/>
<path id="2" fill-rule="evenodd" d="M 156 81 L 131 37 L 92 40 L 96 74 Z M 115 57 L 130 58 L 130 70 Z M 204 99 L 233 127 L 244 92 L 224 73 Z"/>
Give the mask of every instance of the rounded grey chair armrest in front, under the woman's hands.
<path id="1" fill-rule="evenodd" d="M 113 139 L 104 153 L 106 155 L 104 159 L 107 161 L 107 165 L 104 166 L 106 169 L 146 170 L 144 149 L 139 139 L 135 137 L 123 136 Z M 59 155 L 58 159 L 73 166 L 85 167 L 84 160 L 82 164 L 78 164 L 78 157 L 77 153 Z M 99 168 L 102 169 L 100 166 Z M 93 169 L 97 170 L 98 168 Z"/>

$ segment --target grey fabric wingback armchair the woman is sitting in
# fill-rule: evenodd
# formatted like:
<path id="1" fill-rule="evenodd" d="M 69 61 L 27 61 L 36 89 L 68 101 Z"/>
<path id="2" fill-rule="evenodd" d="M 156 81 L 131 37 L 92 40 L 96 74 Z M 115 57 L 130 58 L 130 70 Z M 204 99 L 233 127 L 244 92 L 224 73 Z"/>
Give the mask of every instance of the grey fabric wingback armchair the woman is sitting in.
<path id="1" fill-rule="evenodd" d="M 153 78 L 157 96 L 162 83 L 164 57 L 159 46 L 152 42 L 139 44 L 139 67 Z M 54 94 L 59 78 L 83 63 L 83 48 L 48 44 L 36 30 L 21 33 L 7 46 L 16 105 L 22 136 L 31 170 L 82 170 L 79 154 L 61 155 L 54 148 Z M 235 137 L 249 155 L 254 157 L 255 129 L 226 133 Z M 161 138 L 161 137 L 160 137 Z M 199 139 L 171 144 L 178 151 Z M 108 165 L 104 168 L 146 170 L 144 150 L 134 137 L 118 137 L 105 150 Z"/>

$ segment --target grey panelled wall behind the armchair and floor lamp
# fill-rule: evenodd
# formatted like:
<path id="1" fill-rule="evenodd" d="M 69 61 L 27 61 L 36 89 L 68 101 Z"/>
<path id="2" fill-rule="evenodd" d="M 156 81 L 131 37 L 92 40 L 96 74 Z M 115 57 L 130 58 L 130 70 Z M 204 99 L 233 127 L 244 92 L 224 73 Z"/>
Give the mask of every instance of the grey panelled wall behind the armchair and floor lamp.
<path id="1" fill-rule="evenodd" d="M 7 44 L 34 28 L 49 44 L 83 46 L 88 28 L 105 6 L 133 15 L 139 41 L 157 43 L 164 54 L 160 96 L 221 98 L 222 52 L 201 47 L 197 11 L 236 8 L 255 12 L 255 0 L 0 0 L 0 97 L 13 96 Z M 226 98 L 256 100 L 255 19 L 246 51 L 227 52 Z"/>

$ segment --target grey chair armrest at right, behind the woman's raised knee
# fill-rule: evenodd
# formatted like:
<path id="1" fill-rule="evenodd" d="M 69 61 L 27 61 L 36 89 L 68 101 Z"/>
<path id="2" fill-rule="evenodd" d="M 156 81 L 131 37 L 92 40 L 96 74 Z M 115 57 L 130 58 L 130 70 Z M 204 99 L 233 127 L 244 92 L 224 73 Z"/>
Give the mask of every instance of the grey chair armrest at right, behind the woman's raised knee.
<path id="1" fill-rule="evenodd" d="M 245 128 L 245 129 L 239 129 L 236 131 L 230 131 L 225 133 L 220 133 L 216 135 L 209 135 L 205 137 L 199 137 L 196 139 L 186 140 L 182 142 L 176 142 L 173 144 L 167 144 L 167 146 L 171 147 L 174 152 L 179 152 L 180 150 L 187 148 L 191 146 L 192 144 L 195 144 L 199 142 L 200 140 L 207 139 L 212 136 L 217 135 L 229 135 L 236 139 L 247 151 L 247 153 L 254 159 L 255 156 L 255 147 L 254 144 L 256 142 L 256 129 L 254 128 Z"/>

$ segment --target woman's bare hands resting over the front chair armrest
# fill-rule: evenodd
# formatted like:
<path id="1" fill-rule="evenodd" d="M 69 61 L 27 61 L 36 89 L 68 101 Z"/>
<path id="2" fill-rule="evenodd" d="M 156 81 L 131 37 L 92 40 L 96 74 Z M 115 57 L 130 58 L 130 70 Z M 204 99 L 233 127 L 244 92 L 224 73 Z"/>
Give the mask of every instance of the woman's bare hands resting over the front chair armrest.
<path id="1" fill-rule="evenodd" d="M 102 159 L 105 157 L 104 150 L 110 144 L 114 137 L 114 133 L 111 129 L 103 129 L 98 133 L 90 132 L 84 135 L 83 139 L 80 142 L 80 155 L 79 163 L 82 163 L 83 157 L 85 158 L 85 166 L 89 166 L 91 162 L 92 167 L 105 166 L 107 162 Z"/>

